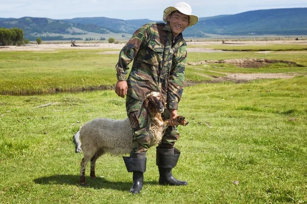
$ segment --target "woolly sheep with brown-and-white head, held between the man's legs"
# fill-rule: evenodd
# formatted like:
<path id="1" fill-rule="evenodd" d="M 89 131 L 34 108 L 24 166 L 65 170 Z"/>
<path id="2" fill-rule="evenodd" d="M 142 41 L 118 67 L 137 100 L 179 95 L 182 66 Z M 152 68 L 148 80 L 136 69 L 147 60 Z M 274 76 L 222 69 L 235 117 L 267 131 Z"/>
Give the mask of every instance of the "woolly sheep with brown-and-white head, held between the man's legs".
<path id="1" fill-rule="evenodd" d="M 165 109 L 165 100 L 159 92 L 146 95 L 143 106 L 150 115 L 150 146 L 161 142 L 162 136 L 169 126 L 169 119 L 163 121 L 162 113 Z M 173 120 L 177 125 L 187 125 L 183 116 Z M 97 159 L 109 152 L 112 155 L 128 154 L 132 149 L 133 130 L 129 119 L 114 120 L 109 118 L 96 118 L 85 123 L 79 131 L 83 159 L 80 169 L 80 183 L 85 185 L 85 167 L 91 160 L 90 176 L 95 178 L 95 163 Z M 76 137 L 75 137 L 76 138 Z"/>

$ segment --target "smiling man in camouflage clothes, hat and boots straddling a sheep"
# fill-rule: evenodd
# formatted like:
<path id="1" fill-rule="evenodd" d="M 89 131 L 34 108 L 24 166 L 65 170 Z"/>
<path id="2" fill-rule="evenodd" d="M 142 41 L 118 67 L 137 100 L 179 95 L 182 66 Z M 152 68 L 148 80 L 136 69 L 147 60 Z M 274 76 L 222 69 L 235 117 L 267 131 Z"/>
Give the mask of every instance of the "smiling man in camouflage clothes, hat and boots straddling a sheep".
<path id="1" fill-rule="evenodd" d="M 131 193 L 139 193 L 143 187 L 146 170 L 146 151 L 150 143 L 150 119 L 142 101 L 146 93 L 159 91 L 167 101 L 164 119 L 174 119 L 184 86 L 184 70 L 187 57 L 186 42 L 182 32 L 198 22 L 191 14 L 191 7 L 180 2 L 164 10 L 165 23 L 148 23 L 138 29 L 119 54 L 116 65 L 118 82 L 115 92 L 126 97 L 126 110 L 134 131 L 134 147 L 130 157 L 123 157 L 128 172 L 133 172 Z M 128 64 L 134 60 L 128 79 Z M 161 144 L 157 147 L 160 185 L 187 185 L 172 176 L 180 151 L 173 147 L 179 138 L 176 123 L 171 122 Z"/>

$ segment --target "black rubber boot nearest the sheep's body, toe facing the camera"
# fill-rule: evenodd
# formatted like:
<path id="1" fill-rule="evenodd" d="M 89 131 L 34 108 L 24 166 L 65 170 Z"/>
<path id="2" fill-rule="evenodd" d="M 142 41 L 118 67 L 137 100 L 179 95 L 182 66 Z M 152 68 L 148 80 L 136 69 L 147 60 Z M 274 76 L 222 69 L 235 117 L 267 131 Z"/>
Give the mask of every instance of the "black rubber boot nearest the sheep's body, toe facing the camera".
<path id="1" fill-rule="evenodd" d="M 123 157 L 128 172 L 133 172 L 133 185 L 130 193 L 138 194 L 143 188 L 144 176 L 146 171 L 146 152 L 131 151 L 130 157 Z"/>

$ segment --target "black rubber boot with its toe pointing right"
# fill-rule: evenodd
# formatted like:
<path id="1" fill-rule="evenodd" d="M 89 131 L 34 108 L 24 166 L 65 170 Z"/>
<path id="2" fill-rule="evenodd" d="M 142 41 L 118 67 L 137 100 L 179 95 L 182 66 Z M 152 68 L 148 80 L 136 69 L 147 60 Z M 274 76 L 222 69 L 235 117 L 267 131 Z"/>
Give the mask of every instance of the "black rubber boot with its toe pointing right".
<path id="1" fill-rule="evenodd" d="M 161 149 L 157 147 L 157 166 L 159 168 L 159 184 L 172 186 L 186 186 L 185 181 L 175 179 L 171 171 L 177 165 L 180 157 L 180 151 L 177 148 Z"/>

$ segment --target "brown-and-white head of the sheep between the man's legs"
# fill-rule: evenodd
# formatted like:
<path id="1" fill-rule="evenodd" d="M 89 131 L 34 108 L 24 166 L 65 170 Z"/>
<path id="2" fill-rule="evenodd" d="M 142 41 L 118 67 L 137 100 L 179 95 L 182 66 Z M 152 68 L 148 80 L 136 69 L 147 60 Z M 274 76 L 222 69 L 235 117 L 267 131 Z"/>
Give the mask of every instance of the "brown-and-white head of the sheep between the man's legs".
<path id="1" fill-rule="evenodd" d="M 158 113 L 163 113 L 166 101 L 161 93 L 152 91 L 146 95 L 144 107 L 151 109 L 151 111 L 156 110 Z"/>

